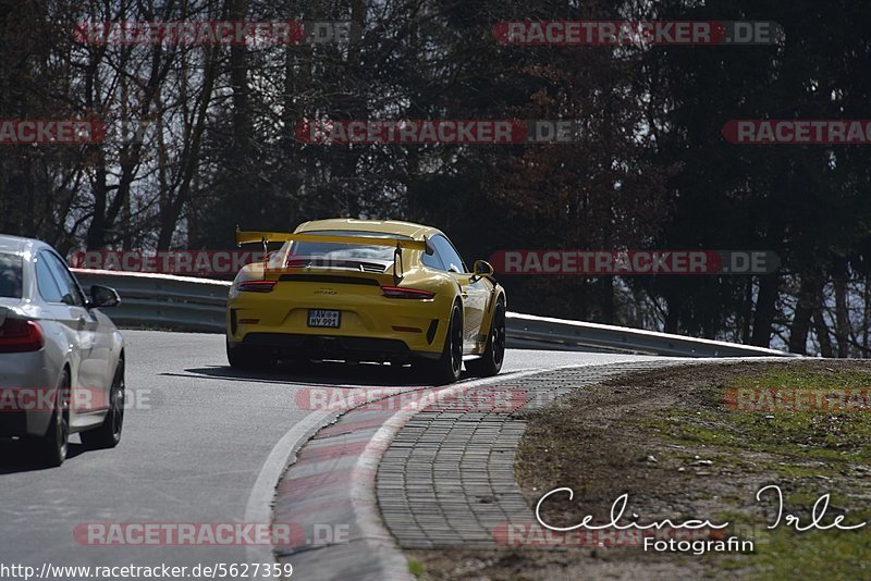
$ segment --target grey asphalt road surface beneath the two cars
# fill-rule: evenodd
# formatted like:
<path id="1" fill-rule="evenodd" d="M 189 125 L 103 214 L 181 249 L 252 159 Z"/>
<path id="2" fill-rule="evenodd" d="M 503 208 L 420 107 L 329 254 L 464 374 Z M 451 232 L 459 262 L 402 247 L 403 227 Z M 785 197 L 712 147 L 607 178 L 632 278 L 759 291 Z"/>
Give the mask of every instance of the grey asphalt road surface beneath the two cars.
<path id="1" fill-rule="evenodd" d="M 90 546 L 73 530 L 87 522 L 242 522 L 272 447 L 310 413 L 297 407 L 298 390 L 418 385 L 407 368 L 365 364 L 242 374 L 228 366 L 221 335 L 124 336 L 131 407 L 118 448 L 84 450 L 73 436 L 66 463 L 39 469 L 17 443 L 0 443 L 0 564 L 246 563 L 244 546 Z M 503 372 L 642 359 L 510 350 Z"/>

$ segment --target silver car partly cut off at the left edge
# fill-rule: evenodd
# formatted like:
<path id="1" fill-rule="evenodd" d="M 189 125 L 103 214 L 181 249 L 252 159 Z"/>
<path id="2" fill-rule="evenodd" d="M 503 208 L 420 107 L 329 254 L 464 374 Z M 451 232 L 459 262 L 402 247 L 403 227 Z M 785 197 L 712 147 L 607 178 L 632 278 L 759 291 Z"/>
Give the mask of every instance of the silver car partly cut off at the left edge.
<path id="1" fill-rule="evenodd" d="M 70 434 L 114 447 L 124 420 L 124 339 L 101 308 L 121 299 L 94 285 L 86 296 L 49 245 L 0 234 L 0 437 L 60 466 Z"/>

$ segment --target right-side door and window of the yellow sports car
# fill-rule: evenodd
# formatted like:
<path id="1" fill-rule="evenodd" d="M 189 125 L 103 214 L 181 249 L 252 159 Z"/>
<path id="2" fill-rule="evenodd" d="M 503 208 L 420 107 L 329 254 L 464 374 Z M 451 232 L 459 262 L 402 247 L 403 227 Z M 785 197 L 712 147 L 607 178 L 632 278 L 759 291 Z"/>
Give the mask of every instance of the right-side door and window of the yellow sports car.
<path id="1" fill-rule="evenodd" d="M 487 338 L 487 331 L 481 330 L 481 324 L 490 290 L 486 281 L 468 272 L 451 240 L 442 235 L 436 235 L 431 238 L 431 243 L 445 270 L 459 284 L 463 297 L 463 353 L 474 353 Z"/>

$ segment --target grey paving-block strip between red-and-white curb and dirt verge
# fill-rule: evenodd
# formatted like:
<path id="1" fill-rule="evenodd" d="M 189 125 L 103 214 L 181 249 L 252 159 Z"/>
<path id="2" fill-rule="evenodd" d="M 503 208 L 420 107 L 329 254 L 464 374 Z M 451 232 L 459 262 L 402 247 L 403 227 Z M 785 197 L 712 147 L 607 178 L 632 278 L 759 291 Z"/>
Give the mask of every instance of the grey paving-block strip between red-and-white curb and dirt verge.
<path id="1" fill-rule="evenodd" d="M 384 523 L 403 548 L 495 547 L 493 532 L 500 524 L 536 521 L 514 480 L 525 412 L 579 387 L 675 364 L 687 361 L 539 372 L 511 382 L 528 399 L 513 412 L 424 409 L 396 433 L 379 465 L 377 496 Z"/>

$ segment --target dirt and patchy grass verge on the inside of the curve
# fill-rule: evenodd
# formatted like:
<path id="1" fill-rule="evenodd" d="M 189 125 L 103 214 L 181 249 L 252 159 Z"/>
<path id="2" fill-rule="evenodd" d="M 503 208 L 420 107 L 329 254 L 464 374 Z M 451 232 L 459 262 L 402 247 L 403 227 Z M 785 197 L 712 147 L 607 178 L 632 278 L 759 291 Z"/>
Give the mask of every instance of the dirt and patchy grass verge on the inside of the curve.
<path id="1" fill-rule="evenodd" d="M 542 518 L 553 526 L 586 515 L 610 522 L 615 499 L 627 494 L 627 519 L 728 521 L 710 537 L 750 540 L 752 552 L 646 552 L 619 535 L 576 536 L 566 548 L 553 545 L 569 537 L 557 535 L 554 543 L 536 523 L 520 523 L 530 527 L 518 529 L 515 546 L 407 552 L 413 569 L 421 579 L 869 578 L 871 531 L 796 533 L 784 523 L 769 531 L 774 496 L 756 499 L 761 487 L 777 484 L 784 515 L 807 524 L 817 498 L 831 493 L 823 522 L 842 514 L 845 526 L 871 521 L 868 411 L 736 411 L 724 400 L 735 387 L 871 388 L 871 363 L 778 360 L 625 375 L 531 415 L 515 473 L 530 507 L 553 489 L 574 491 L 572 500 L 561 494 L 542 505 Z M 622 546 L 603 546 L 614 544 Z"/>

